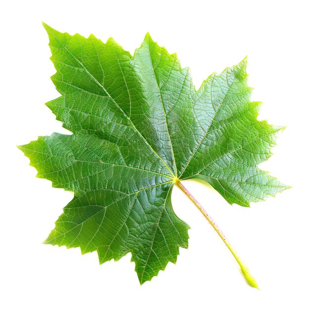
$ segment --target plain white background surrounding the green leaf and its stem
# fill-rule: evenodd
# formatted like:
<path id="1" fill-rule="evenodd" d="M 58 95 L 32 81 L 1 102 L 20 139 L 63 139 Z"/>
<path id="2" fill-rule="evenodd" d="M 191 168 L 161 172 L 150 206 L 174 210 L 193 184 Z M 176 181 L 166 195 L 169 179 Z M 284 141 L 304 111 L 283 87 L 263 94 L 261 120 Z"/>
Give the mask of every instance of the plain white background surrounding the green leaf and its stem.
<path id="1" fill-rule="evenodd" d="M 6 1 L 1 4 L 0 307 L 309 308 L 306 1 Z M 130 254 L 99 266 L 96 253 L 41 242 L 72 194 L 51 188 L 15 145 L 66 133 L 44 106 L 56 98 L 48 38 L 41 21 L 61 32 L 112 36 L 133 53 L 146 32 L 190 66 L 197 87 L 214 71 L 248 55 L 259 119 L 287 125 L 274 155 L 261 164 L 293 188 L 230 206 L 201 183 L 184 185 L 227 234 L 261 290 L 246 284 L 231 253 L 177 189 L 177 215 L 192 229 L 189 249 L 140 286 Z"/>

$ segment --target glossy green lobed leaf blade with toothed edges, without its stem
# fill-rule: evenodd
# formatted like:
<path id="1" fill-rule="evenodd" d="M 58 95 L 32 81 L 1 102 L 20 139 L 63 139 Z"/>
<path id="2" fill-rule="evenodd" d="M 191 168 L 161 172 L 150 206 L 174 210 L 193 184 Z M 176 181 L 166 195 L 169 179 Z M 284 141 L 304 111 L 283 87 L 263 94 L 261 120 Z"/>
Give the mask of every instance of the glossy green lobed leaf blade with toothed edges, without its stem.
<path id="1" fill-rule="evenodd" d="M 112 38 L 44 27 L 61 94 L 46 105 L 73 134 L 19 148 L 39 178 L 75 193 L 44 243 L 97 251 L 100 263 L 131 252 L 142 284 L 188 247 L 171 204 L 180 180 L 206 181 L 241 206 L 288 188 L 258 168 L 283 127 L 257 120 L 246 59 L 195 90 L 149 34 L 131 56 Z"/>

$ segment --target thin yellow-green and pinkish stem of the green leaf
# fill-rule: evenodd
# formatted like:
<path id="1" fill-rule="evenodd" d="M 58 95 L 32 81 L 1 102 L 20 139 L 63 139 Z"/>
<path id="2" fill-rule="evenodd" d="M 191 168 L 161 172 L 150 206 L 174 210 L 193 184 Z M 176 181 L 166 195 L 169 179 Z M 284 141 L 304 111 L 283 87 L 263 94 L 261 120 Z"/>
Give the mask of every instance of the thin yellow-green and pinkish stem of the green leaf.
<path id="1" fill-rule="evenodd" d="M 256 283 L 254 277 L 250 274 L 248 268 L 244 264 L 244 262 L 238 257 L 236 251 L 231 246 L 230 241 L 227 239 L 225 234 L 220 230 L 218 225 L 215 223 L 215 221 L 210 217 L 210 215 L 207 213 L 207 211 L 202 207 L 202 205 L 195 199 L 195 197 L 184 187 L 184 185 L 179 181 L 175 181 L 176 186 L 183 192 L 185 193 L 193 202 L 193 204 L 198 208 L 198 210 L 203 214 L 203 216 L 208 220 L 208 222 L 211 224 L 211 226 L 215 229 L 215 231 L 218 233 L 220 238 L 224 241 L 224 243 L 227 245 L 229 250 L 231 251 L 233 257 L 235 258 L 236 262 L 240 266 L 240 270 L 243 273 L 246 281 L 248 282 L 249 285 L 252 287 L 255 287 L 259 289 L 258 284 Z"/>

